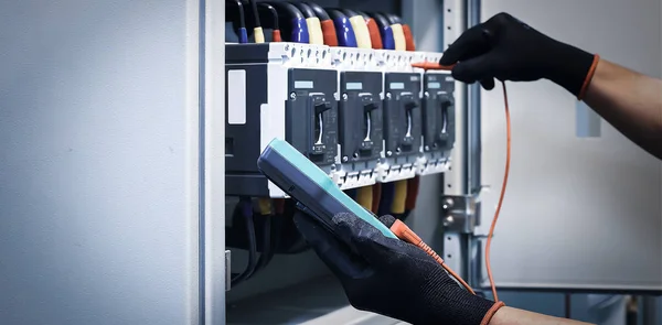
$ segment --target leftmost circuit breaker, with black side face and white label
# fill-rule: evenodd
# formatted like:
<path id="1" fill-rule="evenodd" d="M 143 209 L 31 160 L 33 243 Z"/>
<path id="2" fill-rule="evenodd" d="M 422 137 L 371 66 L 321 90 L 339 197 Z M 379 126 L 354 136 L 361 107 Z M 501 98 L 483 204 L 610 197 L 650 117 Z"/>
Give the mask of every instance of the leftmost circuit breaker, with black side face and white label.
<path id="1" fill-rule="evenodd" d="M 226 194 L 284 196 L 256 164 L 274 138 L 287 140 L 332 175 L 338 155 L 338 73 L 329 48 L 261 43 L 226 44 L 225 50 Z"/>

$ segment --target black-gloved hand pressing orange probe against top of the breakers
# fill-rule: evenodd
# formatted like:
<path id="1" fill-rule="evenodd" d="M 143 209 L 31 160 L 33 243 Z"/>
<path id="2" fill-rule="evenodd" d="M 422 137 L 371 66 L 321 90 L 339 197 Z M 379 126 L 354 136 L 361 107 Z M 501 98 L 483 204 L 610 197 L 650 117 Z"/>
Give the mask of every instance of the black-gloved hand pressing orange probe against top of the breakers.
<path id="1" fill-rule="evenodd" d="M 488 90 L 494 88 L 494 78 L 546 78 L 581 98 L 598 58 L 548 37 L 508 13 L 499 13 L 466 31 L 446 50 L 439 64 L 457 63 L 452 69 L 456 79 L 480 82 Z"/>

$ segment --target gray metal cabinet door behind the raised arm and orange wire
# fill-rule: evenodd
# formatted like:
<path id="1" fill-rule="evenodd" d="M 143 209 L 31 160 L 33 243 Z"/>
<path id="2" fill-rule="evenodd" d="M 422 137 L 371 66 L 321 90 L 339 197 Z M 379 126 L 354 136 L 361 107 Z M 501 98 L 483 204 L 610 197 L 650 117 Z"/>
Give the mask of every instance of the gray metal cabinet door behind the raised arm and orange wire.
<path id="1" fill-rule="evenodd" d="M 549 36 L 660 77 L 659 0 L 490 0 Z M 501 288 L 662 290 L 661 163 L 549 82 L 508 84 L 512 169 L 492 247 Z M 503 177 L 502 91 L 482 93 L 482 226 Z M 484 275 L 484 272 L 483 272 Z M 484 277 L 487 278 L 487 277 Z M 487 285 L 487 280 L 482 283 Z"/>

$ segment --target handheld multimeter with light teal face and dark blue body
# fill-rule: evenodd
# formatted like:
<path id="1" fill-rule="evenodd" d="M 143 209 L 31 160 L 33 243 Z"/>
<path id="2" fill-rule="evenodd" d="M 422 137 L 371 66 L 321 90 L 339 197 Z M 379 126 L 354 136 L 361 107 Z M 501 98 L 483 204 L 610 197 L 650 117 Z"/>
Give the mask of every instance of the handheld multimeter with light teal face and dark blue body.
<path id="1" fill-rule="evenodd" d="M 335 228 L 333 216 L 351 213 L 377 228 L 384 236 L 397 239 L 374 214 L 344 194 L 327 173 L 287 141 L 271 140 L 257 159 L 257 167 L 331 232 Z"/>

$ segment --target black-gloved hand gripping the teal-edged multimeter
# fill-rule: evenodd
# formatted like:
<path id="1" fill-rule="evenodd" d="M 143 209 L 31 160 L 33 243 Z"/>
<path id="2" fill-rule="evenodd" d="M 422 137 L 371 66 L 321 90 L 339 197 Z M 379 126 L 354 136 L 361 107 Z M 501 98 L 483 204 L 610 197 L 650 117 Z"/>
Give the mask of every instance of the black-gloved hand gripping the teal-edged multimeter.
<path id="1" fill-rule="evenodd" d="M 380 220 L 391 227 L 395 218 Z M 502 305 L 467 292 L 421 249 L 352 214 L 333 217 L 337 236 L 302 213 L 295 224 L 357 310 L 410 324 L 479 325 Z"/>

